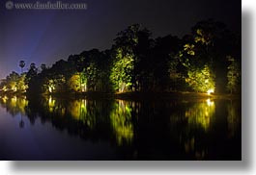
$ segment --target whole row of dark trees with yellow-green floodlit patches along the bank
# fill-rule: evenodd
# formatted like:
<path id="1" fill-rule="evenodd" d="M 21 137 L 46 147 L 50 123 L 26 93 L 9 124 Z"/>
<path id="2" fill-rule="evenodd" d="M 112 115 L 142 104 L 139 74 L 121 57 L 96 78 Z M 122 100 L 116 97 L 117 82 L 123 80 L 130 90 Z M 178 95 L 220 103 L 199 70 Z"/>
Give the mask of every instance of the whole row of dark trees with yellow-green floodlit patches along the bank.
<path id="1" fill-rule="evenodd" d="M 31 63 L 12 72 L 2 92 L 241 92 L 241 35 L 213 19 L 198 22 L 184 38 L 152 38 L 135 24 L 118 33 L 110 50 L 71 55 L 51 67 Z"/>

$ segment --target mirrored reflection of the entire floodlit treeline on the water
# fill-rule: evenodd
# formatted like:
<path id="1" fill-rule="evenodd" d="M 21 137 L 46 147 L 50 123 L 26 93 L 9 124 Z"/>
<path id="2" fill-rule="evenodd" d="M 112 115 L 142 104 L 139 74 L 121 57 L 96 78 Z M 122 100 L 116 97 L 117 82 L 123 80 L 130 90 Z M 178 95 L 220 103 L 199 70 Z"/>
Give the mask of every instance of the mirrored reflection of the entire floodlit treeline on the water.
<path id="1" fill-rule="evenodd" d="M 38 117 L 42 123 L 50 122 L 71 136 L 110 141 L 114 147 L 118 145 L 118 152 L 128 160 L 209 159 L 215 155 L 215 146 L 221 150 L 223 145 L 236 143 L 233 136 L 239 134 L 241 122 L 240 104 L 226 101 L 114 102 L 49 96 L 29 98 L 29 102 L 25 98 L 1 97 L 0 102 L 8 112 L 15 115 L 20 112 L 17 116 L 21 116 L 21 121 L 27 117 L 33 124 Z M 221 116 L 216 117 L 217 113 Z M 217 118 L 227 121 L 227 125 L 218 125 Z"/>

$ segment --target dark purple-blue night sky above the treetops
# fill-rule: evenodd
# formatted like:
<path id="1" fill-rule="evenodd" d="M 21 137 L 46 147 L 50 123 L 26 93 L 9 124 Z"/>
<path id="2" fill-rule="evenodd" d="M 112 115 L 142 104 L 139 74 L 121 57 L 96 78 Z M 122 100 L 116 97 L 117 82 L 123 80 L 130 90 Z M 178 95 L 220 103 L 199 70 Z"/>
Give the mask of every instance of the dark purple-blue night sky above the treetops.
<path id="1" fill-rule="evenodd" d="M 47 2 L 49 0 L 39 0 Z M 56 2 L 57 0 L 51 0 Z M 14 0 L 34 3 L 34 0 Z M 0 78 L 18 62 L 46 63 L 84 50 L 110 48 L 116 34 L 141 23 L 153 37 L 183 37 L 196 22 L 214 18 L 241 30 L 241 0 L 63 0 L 84 2 L 87 10 L 6 10 L 0 2 Z"/>

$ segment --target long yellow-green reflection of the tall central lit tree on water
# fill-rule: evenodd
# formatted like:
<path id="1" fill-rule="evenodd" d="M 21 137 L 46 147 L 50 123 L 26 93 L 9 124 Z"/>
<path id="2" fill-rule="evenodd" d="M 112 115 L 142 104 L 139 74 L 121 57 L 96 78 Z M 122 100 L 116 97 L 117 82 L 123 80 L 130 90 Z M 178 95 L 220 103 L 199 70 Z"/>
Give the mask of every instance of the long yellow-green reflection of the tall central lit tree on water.
<path id="1" fill-rule="evenodd" d="M 131 107 L 128 102 L 118 100 L 110 113 L 110 120 L 115 132 L 117 143 L 131 142 L 133 139 L 133 125 L 131 121 Z"/>

